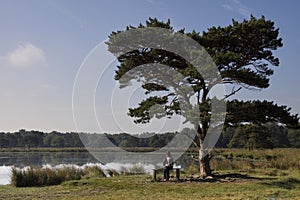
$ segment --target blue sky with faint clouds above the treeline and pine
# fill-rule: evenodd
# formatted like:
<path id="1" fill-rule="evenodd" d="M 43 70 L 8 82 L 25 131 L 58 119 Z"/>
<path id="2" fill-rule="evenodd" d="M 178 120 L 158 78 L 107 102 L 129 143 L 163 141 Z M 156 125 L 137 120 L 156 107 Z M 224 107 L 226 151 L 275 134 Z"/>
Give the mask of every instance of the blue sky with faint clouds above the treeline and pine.
<path id="1" fill-rule="evenodd" d="M 300 113 L 299 4 L 258 0 L 0 0 L 0 131 L 76 130 L 72 90 L 84 58 L 112 31 L 144 23 L 149 17 L 170 18 L 175 29 L 199 32 L 228 25 L 232 18 L 248 19 L 250 14 L 274 20 L 284 43 L 276 52 L 281 65 L 268 89 L 243 91 L 239 97 L 272 100 Z M 100 93 L 105 95 L 105 91 Z M 105 123 L 104 131 L 121 130 Z M 97 130 L 87 127 L 82 131 Z"/>

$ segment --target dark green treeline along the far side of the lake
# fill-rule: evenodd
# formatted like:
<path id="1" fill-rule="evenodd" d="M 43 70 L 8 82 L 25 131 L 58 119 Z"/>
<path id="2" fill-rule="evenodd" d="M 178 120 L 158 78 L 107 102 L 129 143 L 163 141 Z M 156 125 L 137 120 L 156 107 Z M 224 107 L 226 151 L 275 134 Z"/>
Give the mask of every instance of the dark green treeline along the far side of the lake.
<path id="1" fill-rule="evenodd" d="M 184 129 L 184 132 L 193 132 Z M 80 133 L 85 135 L 85 133 Z M 149 133 L 150 134 L 150 133 Z M 151 137 L 135 137 L 129 134 L 107 134 L 106 137 L 119 147 L 151 147 L 160 148 L 168 144 L 178 134 L 151 134 Z M 90 135 L 90 134 L 87 134 Z M 97 142 L 97 141 L 94 141 Z M 64 148 L 84 147 L 78 133 L 60 133 L 19 130 L 13 133 L 0 132 L 0 148 Z M 275 124 L 243 125 L 226 127 L 219 138 L 218 148 L 300 148 L 300 130 L 288 129 Z"/>

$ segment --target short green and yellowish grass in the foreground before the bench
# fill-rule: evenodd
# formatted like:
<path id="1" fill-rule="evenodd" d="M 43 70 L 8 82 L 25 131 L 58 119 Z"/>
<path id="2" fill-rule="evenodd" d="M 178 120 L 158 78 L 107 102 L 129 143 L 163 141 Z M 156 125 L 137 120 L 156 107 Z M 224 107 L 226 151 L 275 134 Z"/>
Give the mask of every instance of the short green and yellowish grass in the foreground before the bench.
<path id="1" fill-rule="evenodd" d="M 153 182 L 148 175 L 90 178 L 58 186 L 0 187 L 0 199 L 299 199 L 299 171 L 222 171 L 247 174 L 233 182 Z"/>

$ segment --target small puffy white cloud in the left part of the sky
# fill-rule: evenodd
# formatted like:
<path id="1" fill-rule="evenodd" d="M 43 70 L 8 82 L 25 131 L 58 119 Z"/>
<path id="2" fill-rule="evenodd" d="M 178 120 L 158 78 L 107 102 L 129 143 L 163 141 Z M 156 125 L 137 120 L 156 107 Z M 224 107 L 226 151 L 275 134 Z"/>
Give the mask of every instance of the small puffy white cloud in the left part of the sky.
<path id="1" fill-rule="evenodd" d="M 33 44 L 19 45 L 6 56 L 7 62 L 15 67 L 31 67 L 46 61 L 45 53 Z"/>

